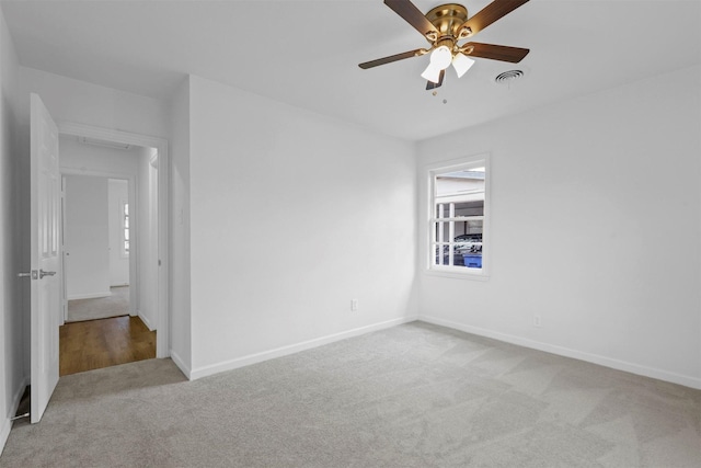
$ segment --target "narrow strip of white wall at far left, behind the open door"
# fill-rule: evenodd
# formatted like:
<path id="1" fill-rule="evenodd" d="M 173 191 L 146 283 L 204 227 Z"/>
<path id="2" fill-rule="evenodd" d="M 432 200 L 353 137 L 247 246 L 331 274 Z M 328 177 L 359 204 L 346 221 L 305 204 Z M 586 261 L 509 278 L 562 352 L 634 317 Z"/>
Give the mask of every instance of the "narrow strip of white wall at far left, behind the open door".
<path id="1" fill-rule="evenodd" d="M 0 453 L 10 434 L 24 378 L 22 343 L 22 263 L 20 244 L 19 66 L 12 37 L 0 10 Z"/>

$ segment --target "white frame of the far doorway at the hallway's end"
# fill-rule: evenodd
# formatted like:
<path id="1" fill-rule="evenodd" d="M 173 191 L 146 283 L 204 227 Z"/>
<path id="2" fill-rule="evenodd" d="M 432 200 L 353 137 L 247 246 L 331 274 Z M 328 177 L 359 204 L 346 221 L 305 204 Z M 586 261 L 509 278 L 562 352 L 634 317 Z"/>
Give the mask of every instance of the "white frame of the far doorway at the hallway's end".
<path id="1" fill-rule="evenodd" d="M 59 132 L 60 135 L 60 132 Z M 59 147 L 59 158 L 60 158 L 60 147 Z M 66 175 L 87 175 L 91 178 L 103 178 L 103 179 L 119 179 L 125 180 L 129 184 L 128 190 L 128 199 L 129 206 L 133 206 L 135 212 L 138 213 L 140 201 L 137 197 L 136 186 L 137 186 L 137 175 L 131 174 L 123 174 L 119 172 L 103 172 L 103 171 L 93 171 L 91 169 L 73 169 L 73 168 L 59 168 L 61 174 L 61 206 L 62 206 L 62 217 L 61 217 L 61 246 L 66 247 L 66 186 L 64 182 L 66 180 Z M 134 226 L 134 232 L 138 232 L 141 227 L 139 226 L 138 219 L 130 220 Z M 129 254 L 129 316 L 137 316 L 137 297 L 139 297 L 139 244 L 138 244 L 138 236 L 135 236 L 131 242 L 135 246 L 134 252 Z M 68 319 L 68 297 L 67 297 L 67 276 L 66 276 L 66 252 L 64 249 L 64 258 L 61 259 L 61 270 L 64 271 L 61 285 L 61 308 L 64 313 L 61 315 L 60 324 L 66 322 Z M 158 315 L 158 312 L 157 312 Z M 158 326 L 158 323 L 157 323 Z M 158 340 L 158 333 L 157 333 Z"/>

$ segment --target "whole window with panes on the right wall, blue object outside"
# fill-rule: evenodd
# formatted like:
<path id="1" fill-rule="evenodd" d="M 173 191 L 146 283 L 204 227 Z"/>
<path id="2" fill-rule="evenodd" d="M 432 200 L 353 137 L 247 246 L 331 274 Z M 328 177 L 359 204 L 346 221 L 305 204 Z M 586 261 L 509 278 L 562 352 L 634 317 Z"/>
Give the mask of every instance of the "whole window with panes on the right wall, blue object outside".
<path id="1" fill-rule="evenodd" d="M 429 174 L 429 270 L 486 276 L 489 158 L 451 161 Z"/>

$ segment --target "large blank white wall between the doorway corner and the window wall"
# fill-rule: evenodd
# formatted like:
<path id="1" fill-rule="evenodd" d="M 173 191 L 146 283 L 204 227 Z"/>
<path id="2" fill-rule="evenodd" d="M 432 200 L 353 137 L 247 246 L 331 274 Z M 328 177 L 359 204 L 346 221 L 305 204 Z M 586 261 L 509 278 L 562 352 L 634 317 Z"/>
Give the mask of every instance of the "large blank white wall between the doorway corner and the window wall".
<path id="1" fill-rule="evenodd" d="M 197 77 L 189 105 L 194 377 L 415 316 L 413 145 Z"/>

